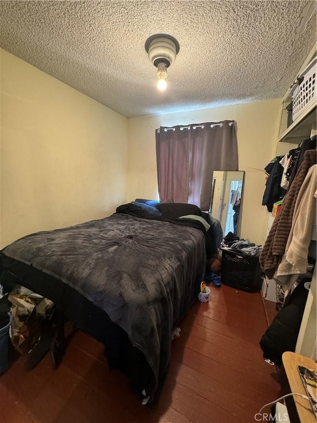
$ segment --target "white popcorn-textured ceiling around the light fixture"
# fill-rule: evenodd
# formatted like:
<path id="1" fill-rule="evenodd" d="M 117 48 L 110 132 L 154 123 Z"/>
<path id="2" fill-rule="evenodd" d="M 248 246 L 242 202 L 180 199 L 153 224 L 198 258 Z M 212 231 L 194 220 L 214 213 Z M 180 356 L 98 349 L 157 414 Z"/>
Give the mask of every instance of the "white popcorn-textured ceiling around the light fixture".
<path id="1" fill-rule="evenodd" d="M 308 3 L 0 1 L 0 46 L 127 117 L 251 102 L 281 97 L 314 45 Z M 157 33 L 180 44 L 165 92 Z"/>

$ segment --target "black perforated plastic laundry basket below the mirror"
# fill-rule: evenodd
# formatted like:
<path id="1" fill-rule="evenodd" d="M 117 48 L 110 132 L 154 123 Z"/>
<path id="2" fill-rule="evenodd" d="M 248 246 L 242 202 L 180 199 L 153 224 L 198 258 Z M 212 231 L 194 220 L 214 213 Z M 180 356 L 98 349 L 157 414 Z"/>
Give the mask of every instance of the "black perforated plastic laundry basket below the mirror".
<path id="1" fill-rule="evenodd" d="M 259 257 L 223 249 L 221 282 L 242 291 L 260 291 L 262 279 Z"/>

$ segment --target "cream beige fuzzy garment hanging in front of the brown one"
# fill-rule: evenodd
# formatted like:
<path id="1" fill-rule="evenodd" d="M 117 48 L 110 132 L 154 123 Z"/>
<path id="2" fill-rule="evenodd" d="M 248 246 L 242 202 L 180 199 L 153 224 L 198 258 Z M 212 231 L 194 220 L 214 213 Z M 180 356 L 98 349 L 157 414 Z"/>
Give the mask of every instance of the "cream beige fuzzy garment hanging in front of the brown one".
<path id="1" fill-rule="evenodd" d="M 285 253 L 277 268 L 274 280 L 288 294 L 299 275 L 305 274 L 308 265 L 308 250 L 316 218 L 316 183 L 317 165 L 312 166 L 298 193 L 291 231 L 285 247 Z"/>

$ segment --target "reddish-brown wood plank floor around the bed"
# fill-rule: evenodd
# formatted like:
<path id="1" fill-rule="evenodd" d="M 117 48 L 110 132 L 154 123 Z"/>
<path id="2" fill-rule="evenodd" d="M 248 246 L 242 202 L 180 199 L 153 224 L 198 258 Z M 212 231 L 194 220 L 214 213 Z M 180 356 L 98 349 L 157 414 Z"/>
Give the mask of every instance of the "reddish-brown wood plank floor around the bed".
<path id="1" fill-rule="evenodd" d="M 259 346 L 261 294 L 211 286 L 210 302 L 196 302 L 180 327 L 155 404 L 142 406 L 126 377 L 109 372 L 103 346 L 77 331 L 56 370 L 47 355 L 26 371 L 21 356 L 0 376 L 0 422 L 255 422 L 280 394 Z"/>

